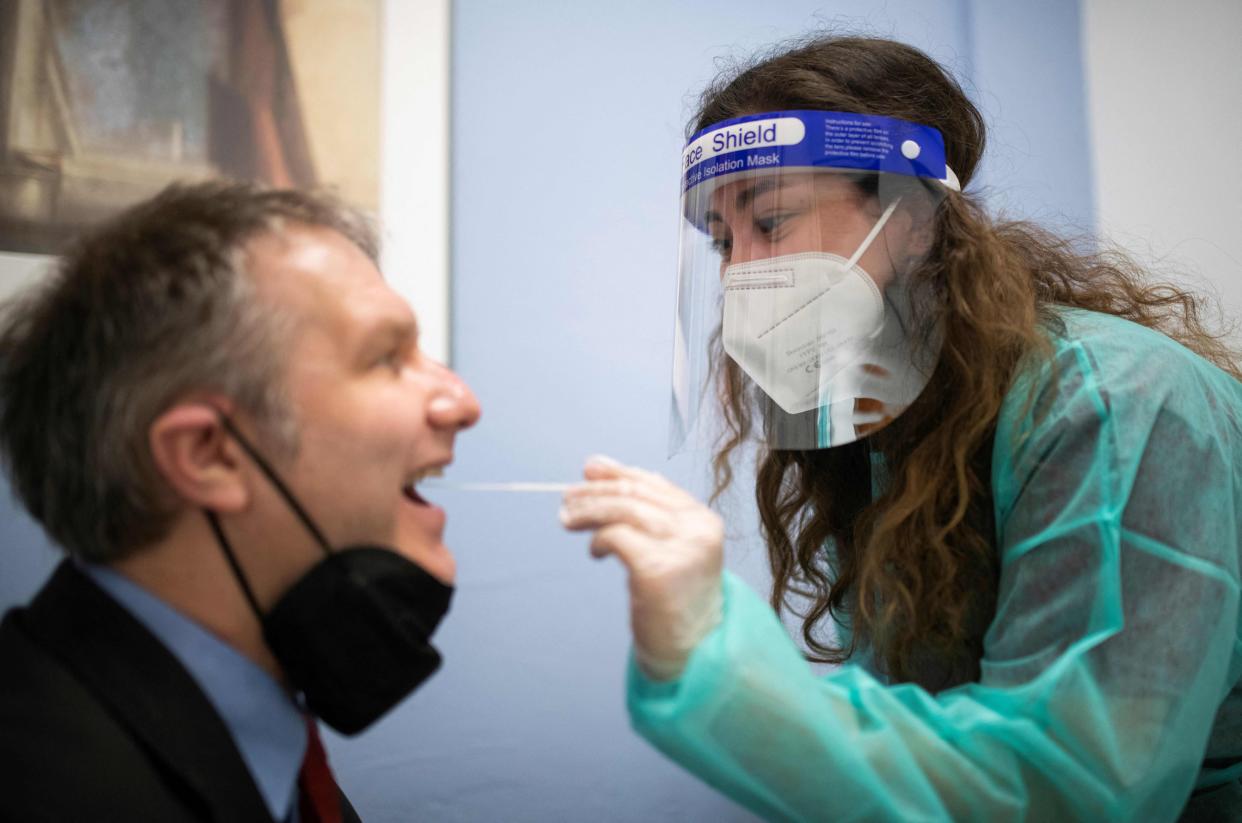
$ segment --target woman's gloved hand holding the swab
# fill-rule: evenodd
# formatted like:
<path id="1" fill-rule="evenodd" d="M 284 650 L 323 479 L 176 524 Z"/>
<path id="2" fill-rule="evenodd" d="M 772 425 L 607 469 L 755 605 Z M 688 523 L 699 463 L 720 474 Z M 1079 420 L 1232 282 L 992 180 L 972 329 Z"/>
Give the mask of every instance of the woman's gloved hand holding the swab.
<path id="1" fill-rule="evenodd" d="M 658 474 L 595 457 L 582 475 L 565 492 L 560 520 L 595 531 L 592 556 L 625 564 L 638 665 L 652 679 L 677 679 L 720 622 L 724 524 Z"/>

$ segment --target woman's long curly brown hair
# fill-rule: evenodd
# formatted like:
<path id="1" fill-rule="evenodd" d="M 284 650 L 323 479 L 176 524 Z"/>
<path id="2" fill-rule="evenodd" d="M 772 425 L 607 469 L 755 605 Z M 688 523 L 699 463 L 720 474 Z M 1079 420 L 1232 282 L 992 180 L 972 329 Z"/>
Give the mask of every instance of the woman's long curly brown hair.
<path id="1" fill-rule="evenodd" d="M 963 186 L 984 153 L 985 125 L 958 82 L 910 46 L 820 36 L 727 72 L 702 97 L 691 133 L 780 109 L 879 114 L 935 127 Z M 1151 284 L 1119 251 L 1079 245 L 1021 221 L 995 221 L 969 194 L 950 195 L 935 241 L 910 274 L 943 349 L 927 390 L 892 425 L 837 448 L 759 454 L 755 497 L 773 573 L 771 602 L 802 618 L 807 657 L 840 663 L 866 643 L 895 681 L 939 690 L 975 680 L 996 606 L 999 555 L 990 488 L 996 420 L 1020 369 L 1049 358 L 1054 307 L 1104 312 L 1159 329 L 1236 377 L 1236 355 L 1208 331 L 1207 304 Z M 724 398 L 715 494 L 755 412 L 748 381 L 713 360 Z M 877 499 L 872 452 L 889 480 Z M 826 551 L 825 546 L 832 546 Z M 801 602 L 801 608 L 797 602 Z M 825 617 L 848 627 L 823 637 Z"/>

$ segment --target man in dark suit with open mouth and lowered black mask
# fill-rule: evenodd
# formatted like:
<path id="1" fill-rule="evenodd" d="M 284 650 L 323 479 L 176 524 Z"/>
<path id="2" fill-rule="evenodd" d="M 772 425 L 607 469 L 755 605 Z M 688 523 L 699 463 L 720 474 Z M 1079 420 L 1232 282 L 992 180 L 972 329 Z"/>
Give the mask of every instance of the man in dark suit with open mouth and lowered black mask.
<path id="1" fill-rule="evenodd" d="M 417 484 L 479 416 L 376 261 L 329 197 L 174 186 L 9 307 L 0 452 L 68 557 L 0 626 L 6 819 L 356 819 L 318 721 L 438 667 Z"/>

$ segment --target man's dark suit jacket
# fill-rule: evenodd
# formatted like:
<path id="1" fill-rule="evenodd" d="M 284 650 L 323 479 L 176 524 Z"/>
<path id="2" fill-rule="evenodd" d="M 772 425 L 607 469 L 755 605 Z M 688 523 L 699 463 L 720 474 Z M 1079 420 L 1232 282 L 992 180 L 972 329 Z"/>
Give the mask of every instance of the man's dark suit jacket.
<path id="1" fill-rule="evenodd" d="M 0 821 L 272 816 L 185 668 L 63 562 L 0 623 Z"/>

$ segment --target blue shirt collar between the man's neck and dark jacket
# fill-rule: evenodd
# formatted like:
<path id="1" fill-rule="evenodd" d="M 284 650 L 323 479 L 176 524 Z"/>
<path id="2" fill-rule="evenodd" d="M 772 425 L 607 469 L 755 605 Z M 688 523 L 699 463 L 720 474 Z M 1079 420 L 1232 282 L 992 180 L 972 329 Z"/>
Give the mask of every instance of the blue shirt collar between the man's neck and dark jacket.
<path id="1" fill-rule="evenodd" d="M 306 720 L 289 694 L 251 659 L 117 571 L 79 564 L 173 653 L 232 734 L 272 817 L 289 817 L 306 756 Z"/>

